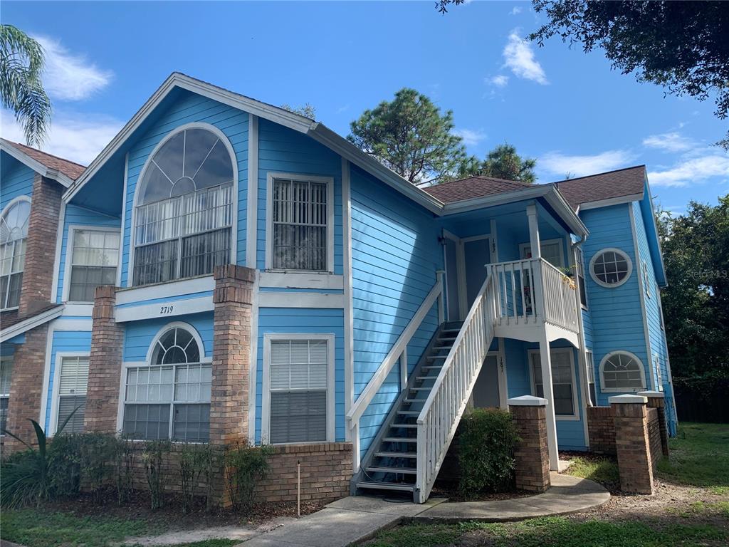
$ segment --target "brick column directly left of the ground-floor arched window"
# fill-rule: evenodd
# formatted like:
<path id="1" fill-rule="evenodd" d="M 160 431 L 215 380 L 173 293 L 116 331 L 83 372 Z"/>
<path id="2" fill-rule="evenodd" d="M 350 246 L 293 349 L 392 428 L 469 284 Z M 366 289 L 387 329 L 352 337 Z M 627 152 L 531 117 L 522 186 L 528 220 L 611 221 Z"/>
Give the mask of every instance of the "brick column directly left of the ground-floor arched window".
<path id="1" fill-rule="evenodd" d="M 112 285 L 96 287 L 84 417 L 86 431 L 117 431 L 124 327 L 114 321 L 116 302 L 116 289 Z"/>

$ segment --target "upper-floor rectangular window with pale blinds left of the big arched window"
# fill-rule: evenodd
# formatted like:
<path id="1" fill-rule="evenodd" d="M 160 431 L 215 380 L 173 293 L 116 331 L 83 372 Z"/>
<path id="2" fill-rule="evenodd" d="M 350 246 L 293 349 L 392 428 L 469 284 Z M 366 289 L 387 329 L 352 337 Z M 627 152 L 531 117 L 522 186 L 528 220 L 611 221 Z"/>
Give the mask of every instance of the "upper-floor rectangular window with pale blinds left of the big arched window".
<path id="1" fill-rule="evenodd" d="M 119 240 L 117 232 L 74 230 L 69 286 L 71 302 L 91 302 L 96 287 L 116 283 Z"/>

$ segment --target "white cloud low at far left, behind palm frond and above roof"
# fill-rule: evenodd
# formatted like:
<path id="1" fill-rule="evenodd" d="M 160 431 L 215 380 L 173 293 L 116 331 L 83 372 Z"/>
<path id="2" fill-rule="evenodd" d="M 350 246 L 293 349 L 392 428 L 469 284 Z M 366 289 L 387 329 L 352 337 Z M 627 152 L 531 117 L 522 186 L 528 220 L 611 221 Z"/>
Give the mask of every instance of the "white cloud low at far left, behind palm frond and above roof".
<path id="1" fill-rule="evenodd" d="M 42 150 L 66 160 L 88 165 L 122 128 L 120 120 L 106 116 L 71 114 L 56 111 L 50 133 Z M 5 139 L 25 142 L 23 129 L 8 110 L 0 112 L 0 126 Z"/>

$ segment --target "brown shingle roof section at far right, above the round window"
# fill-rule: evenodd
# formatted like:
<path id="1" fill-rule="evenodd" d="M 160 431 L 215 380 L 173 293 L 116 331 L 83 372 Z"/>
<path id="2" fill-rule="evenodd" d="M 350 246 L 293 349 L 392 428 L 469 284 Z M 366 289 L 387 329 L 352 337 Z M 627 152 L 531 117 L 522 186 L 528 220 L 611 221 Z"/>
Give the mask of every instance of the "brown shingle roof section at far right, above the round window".
<path id="1" fill-rule="evenodd" d="M 573 209 L 580 203 L 643 193 L 645 166 L 628 167 L 579 179 L 557 182 L 559 191 Z"/>

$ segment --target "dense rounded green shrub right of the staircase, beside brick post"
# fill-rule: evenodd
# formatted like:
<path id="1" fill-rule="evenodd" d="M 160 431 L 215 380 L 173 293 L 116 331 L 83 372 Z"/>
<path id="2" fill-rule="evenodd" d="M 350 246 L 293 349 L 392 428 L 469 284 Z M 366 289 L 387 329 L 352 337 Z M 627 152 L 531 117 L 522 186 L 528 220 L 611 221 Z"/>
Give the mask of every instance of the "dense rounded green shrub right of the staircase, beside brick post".
<path id="1" fill-rule="evenodd" d="M 465 496 L 514 488 L 514 449 L 518 443 L 511 414 L 477 408 L 459 426 L 459 489 Z"/>

